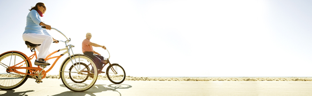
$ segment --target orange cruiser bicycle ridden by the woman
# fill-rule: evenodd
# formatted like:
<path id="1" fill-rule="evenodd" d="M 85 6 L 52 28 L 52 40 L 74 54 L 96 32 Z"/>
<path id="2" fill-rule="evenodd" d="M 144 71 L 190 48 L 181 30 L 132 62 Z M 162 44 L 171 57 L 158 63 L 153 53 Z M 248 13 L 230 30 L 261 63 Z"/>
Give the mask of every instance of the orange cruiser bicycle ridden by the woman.
<path id="1" fill-rule="evenodd" d="M 44 28 L 44 26 L 43 26 Z M 61 33 L 66 39 L 67 37 L 59 30 L 52 28 Z M 46 66 L 32 66 L 31 60 L 37 59 L 35 48 L 40 44 L 32 44 L 25 41 L 26 45 L 34 54 L 27 56 L 19 51 L 8 51 L 0 55 L 0 89 L 16 89 L 23 85 L 28 78 L 35 79 L 37 83 L 42 82 L 41 80 L 46 77 L 46 73 L 49 72 L 56 62 L 66 53 L 67 57 L 61 64 L 59 79 L 61 78 L 63 84 L 72 91 L 85 91 L 90 89 L 96 82 L 97 75 L 88 75 L 88 73 L 97 74 L 98 71 L 90 71 L 93 66 L 95 69 L 95 63 L 90 57 L 83 54 L 73 54 L 73 45 L 68 45 L 71 39 L 67 39 L 64 42 L 66 48 L 59 49 L 49 54 L 45 60 L 56 58 L 54 63 L 48 70 L 44 70 Z M 59 56 L 50 57 L 60 51 L 64 51 Z M 72 54 L 71 54 L 72 53 Z M 86 64 L 91 66 L 85 66 Z M 90 68 L 89 68 L 90 67 Z M 78 76 L 72 76 L 71 74 L 78 74 Z M 92 78 L 93 77 L 93 78 Z"/>

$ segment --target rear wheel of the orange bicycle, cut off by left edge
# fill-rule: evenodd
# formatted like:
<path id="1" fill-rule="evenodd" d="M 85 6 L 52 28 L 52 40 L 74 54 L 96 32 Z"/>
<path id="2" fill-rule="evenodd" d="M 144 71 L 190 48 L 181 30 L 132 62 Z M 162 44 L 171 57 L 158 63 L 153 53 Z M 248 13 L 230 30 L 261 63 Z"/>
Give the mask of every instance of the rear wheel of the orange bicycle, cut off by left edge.
<path id="1" fill-rule="evenodd" d="M 16 89 L 27 80 L 27 75 L 8 72 L 9 66 L 29 67 L 26 57 L 20 52 L 6 52 L 0 56 L 0 89 Z M 16 69 L 17 71 L 29 73 L 27 69 Z"/>

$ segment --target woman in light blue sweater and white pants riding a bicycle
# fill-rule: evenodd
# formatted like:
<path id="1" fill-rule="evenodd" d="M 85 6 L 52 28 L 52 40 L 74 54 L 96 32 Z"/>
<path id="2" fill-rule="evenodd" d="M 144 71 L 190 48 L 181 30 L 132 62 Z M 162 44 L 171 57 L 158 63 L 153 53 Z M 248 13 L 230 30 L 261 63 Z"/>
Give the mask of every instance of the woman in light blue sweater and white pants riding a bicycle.
<path id="1" fill-rule="evenodd" d="M 46 31 L 46 29 L 51 30 L 51 26 L 44 23 L 42 20 L 43 14 L 46 12 L 46 6 L 42 2 L 38 2 L 35 7 L 32 7 L 27 15 L 26 27 L 23 33 L 23 40 L 34 44 L 41 44 L 36 47 L 39 51 L 38 57 L 35 61 L 35 65 L 50 65 L 44 59 L 49 53 L 48 50 L 52 41 L 56 41 L 51 35 Z M 46 29 L 41 28 L 45 26 Z"/>

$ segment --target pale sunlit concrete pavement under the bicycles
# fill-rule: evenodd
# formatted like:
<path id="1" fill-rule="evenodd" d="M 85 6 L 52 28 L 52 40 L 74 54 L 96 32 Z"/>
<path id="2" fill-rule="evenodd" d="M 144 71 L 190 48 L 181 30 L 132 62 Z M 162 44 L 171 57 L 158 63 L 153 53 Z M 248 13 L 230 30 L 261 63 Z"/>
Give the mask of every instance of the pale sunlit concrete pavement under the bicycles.
<path id="1" fill-rule="evenodd" d="M 312 81 L 124 81 L 97 80 L 85 92 L 67 89 L 61 79 L 28 79 L 1 96 L 312 96 Z"/>

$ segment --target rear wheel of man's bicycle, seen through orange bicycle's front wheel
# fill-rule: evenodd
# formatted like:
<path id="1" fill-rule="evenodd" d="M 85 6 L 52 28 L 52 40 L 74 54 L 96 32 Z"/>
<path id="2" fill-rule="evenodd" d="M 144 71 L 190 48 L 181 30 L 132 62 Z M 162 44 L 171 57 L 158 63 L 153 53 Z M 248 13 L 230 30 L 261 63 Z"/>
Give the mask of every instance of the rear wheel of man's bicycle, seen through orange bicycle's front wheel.
<path id="1" fill-rule="evenodd" d="M 78 66 L 79 64 L 75 63 L 74 64 L 75 66 Z M 75 82 L 75 83 L 83 83 L 85 82 L 88 77 L 90 76 L 85 76 L 85 79 L 82 79 L 81 81 L 78 81 L 80 79 L 76 79 L 76 77 L 80 77 L 81 74 L 74 74 L 75 76 L 72 76 L 72 73 L 71 73 L 71 70 L 74 68 L 74 65 L 72 65 L 70 68 L 69 68 L 69 78 L 71 79 L 71 81 Z M 86 68 L 86 71 L 90 71 L 90 68 L 88 67 L 88 65 L 86 65 L 85 63 L 81 63 L 81 65 L 85 66 Z M 83 68 L 84 69 L 84 68 Z"/>

